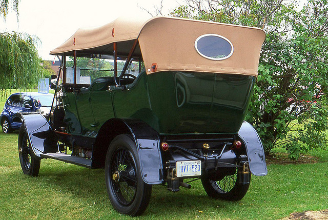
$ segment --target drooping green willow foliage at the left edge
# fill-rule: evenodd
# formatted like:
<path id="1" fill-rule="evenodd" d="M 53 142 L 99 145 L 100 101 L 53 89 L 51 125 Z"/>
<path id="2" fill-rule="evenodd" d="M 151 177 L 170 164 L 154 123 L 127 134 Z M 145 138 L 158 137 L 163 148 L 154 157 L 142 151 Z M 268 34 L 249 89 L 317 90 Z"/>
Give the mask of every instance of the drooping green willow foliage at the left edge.
<path id="1" fill-rule="evenodd" d="M 4 21 L 10 4 L 17 14 L 19 0 L 0 0 L 0 14 Z M 5 89 L 28 89 L 37 85 L 42 76 L 36 45 L 39 39 L 35 36 L 0 30 L 0 94 Z"/>

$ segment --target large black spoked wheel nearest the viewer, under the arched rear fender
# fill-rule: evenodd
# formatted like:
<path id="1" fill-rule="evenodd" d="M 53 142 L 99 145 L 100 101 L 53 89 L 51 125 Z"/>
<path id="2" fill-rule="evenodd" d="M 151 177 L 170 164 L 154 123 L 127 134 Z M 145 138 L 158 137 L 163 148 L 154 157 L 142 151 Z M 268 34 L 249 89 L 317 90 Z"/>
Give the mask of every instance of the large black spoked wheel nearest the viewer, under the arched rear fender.
<path id="1" fill-rule="evenodd" d="M 107 151 L 105 178 L 111 204 L 122 214 L 141 215 L 149 204 L 152 185 L 142 180 L 139 164 L 132 137 L 116 136 Z"/>

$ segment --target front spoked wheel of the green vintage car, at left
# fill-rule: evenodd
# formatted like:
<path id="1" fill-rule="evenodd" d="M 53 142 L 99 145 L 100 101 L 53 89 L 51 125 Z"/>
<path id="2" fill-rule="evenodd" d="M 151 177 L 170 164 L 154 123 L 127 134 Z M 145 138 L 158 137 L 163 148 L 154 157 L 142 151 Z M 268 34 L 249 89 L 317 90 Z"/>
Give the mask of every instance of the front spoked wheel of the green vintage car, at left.
<path id="1" fill-rule="evenodd" d="M 18 153 L 23 173 L 30 176 L 37 176 L 40 170 L 40 158 L 37 158 L 32 151 L 30 139 L 24 124 L 19 129 Z"/>

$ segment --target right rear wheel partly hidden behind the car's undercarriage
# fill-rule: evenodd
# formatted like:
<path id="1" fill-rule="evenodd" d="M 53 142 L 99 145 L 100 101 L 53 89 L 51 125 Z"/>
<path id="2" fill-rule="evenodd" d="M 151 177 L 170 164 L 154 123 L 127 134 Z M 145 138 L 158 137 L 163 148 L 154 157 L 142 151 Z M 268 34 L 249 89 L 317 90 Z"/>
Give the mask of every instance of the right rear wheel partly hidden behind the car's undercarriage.
<path id="1" fill-rule="evenodd" d="M 242 199 L 250 186 L 248 184 L 242 184 L 238 182 L 238 179 L 242 175 L 240 172 L 236 172 L 232 175 L 226 175 L 219 181 L 212 181 L 208 177 L 201 177 L 201 183 L 206 193 L 215 199 L 224 199 L 227 201 L 239 201 Z M 251 172 L 249 173 L 249 179 L 251 181 Z"/>

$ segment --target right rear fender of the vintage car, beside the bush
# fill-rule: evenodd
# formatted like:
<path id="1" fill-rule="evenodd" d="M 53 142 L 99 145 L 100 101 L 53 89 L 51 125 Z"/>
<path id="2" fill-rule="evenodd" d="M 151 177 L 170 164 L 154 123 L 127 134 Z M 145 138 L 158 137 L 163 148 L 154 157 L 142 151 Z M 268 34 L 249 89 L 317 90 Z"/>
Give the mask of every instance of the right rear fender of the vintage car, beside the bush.
<path id="1" fill-rule="evenodd" d="M 238 135 L 245 143 L 252 174 L 256 176 L 267 175 L 268 169 L 267 164 L 265 164 L 263 145 L 256 130 L 248 122 L 243 122 Z"/>

